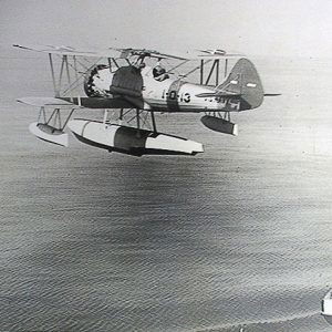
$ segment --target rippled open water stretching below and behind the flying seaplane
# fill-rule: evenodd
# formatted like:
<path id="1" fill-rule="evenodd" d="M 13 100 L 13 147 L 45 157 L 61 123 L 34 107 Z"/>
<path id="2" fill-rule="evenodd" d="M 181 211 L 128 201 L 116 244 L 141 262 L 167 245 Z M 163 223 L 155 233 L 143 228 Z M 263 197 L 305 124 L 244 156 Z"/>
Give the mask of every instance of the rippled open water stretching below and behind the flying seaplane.
<path id="1" fill-rule="evenodd" d="M 283 95 L 237 116 L 238 137 L 199 115 L 159 115 L 206 153 L 136 158 L 32 137 L 35 111 L 14 100 L 51 95 L 46 59 L 10 55 L 1 331 L 332 329 L 320 315 L 332 283 L 331 61 L 258 59 L 267 92 Z"/>

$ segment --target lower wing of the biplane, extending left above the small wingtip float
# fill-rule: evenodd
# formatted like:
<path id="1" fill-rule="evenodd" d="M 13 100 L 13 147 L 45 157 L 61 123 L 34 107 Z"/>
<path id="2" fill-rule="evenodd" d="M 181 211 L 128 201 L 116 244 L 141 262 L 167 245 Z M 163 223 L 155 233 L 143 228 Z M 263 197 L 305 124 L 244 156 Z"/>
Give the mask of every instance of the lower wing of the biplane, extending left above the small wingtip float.
<path id="1" fill-rule="evenodd" d="M 22 97 L 18 102 L 30 106 L 52 106 L 54 108 L 131 108 L 134 106 L 129 101 L 120 97 Z"/>

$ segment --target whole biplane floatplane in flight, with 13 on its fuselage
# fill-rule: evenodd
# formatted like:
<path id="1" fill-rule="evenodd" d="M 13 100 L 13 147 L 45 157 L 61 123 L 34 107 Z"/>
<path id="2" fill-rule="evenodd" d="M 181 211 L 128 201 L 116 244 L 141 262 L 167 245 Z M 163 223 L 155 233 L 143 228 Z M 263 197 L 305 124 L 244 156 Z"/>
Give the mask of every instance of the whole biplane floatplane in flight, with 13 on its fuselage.
<path id="1" fill-rule="evenodd" d="M 30 132 L 61 146 L 69 146 L 68 127 L 79 141 L 108 152 L 196 155 L 204 152 L 203 144 L 158 132 L 156 112 L 205 113 L 201 123 L 206 127 L 237 135 L 230 113 L 257 108 L 264 97 L 258 72 L 245 58 L 238 59 L 220 80 L 224 59 L 227 73 L 224 50 L 201 50 L 199 65 L 176 76 L 174 71 L 190 59 L 146 49 L 13 46 L 49 55 L 54 96 L 22 97 L 18 102 L 40 108 Z M 165 69 L 166 60 L 175 62 L 173 68 Z M 186 77 L 195 71 L 199 72 L 199 82 L 189 83 Z M 103 110 L 104 114 L 100 121 L 72 118 L 80 110 Z M 115 121 L 110 120 L 110 113 L 116 114 Z"/>

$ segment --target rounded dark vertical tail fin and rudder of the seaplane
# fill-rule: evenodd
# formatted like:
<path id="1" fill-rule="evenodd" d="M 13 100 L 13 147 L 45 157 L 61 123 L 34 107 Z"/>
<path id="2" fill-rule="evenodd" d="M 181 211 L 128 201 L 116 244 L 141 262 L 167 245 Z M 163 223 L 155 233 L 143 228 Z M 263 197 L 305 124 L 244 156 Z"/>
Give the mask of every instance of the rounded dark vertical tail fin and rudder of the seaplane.
<path id="1" fill-rule="evenodd" d="M 247 59 L 240 59 L 225 82 L 217 86 L 218 92 L 240 95 L 240 110 L 259 107 L 264 92 L 258 72 Z"/>

